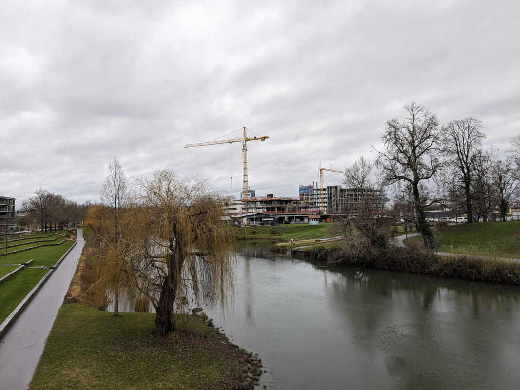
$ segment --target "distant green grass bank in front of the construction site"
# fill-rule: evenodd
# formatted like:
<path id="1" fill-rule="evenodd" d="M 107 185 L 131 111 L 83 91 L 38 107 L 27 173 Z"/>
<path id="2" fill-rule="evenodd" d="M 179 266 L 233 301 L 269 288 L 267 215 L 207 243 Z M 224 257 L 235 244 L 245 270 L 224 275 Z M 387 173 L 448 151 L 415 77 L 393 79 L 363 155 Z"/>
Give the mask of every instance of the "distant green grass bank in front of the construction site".
<path id="1" fill-rule="evenodd" d="M 294 224 L 278 226 L 248 226 L 236 228 L 239 240 L 272 240 L 272 241 L 295 241 L 317 240 L 329 237 L 327 227 L 331 224 L 321 223 L 319 225 Z"/>

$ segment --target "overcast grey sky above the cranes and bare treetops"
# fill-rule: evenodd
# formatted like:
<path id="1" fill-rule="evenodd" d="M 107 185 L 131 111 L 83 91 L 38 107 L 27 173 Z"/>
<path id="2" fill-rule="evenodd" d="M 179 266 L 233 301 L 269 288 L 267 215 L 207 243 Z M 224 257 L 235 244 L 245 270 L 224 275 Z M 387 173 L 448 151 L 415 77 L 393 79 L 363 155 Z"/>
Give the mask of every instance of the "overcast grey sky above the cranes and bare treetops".
<path id="1" fill-rule="evenodd" d="M 172 168 L 238 198 L 240 143 L 184 145 L 243 126 L 269 136 L 248 142 L 251 189 L 297 197 L 320 162 L 374 160 L 413 101 L 440 123 L 476 117 L 505 152 L 520 133 L 520 3 L 0 4 L 0 196 L 17 208 L 40 187 L 98 200 L 114 155 L 128 176 Z"/>

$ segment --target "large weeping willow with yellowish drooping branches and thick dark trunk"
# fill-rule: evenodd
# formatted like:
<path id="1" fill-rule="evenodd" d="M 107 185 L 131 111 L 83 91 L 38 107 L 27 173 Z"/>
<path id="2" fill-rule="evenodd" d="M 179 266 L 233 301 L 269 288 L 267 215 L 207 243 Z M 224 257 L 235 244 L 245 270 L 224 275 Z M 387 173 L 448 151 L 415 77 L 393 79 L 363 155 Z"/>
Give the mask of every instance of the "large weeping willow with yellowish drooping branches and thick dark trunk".
<path id="1" fill-rule="evenodd" d="M 174 309 L 225 302 L 233 290 L 237 240 L 206 181 L 171 170 L 138 180 L 125 229 L 136 288 L 157 313 L 155 330 L 174 332 Z"/>

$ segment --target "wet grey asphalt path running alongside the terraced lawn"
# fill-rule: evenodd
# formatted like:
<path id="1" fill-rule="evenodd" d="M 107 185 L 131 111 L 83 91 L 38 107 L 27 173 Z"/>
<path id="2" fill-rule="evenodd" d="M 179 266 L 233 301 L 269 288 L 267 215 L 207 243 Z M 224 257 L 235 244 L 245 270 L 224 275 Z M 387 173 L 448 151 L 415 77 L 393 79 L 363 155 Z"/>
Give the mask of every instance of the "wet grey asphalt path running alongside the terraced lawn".
<path id="1" fill-rule="evenodd" d="M 74 248 L 0 339 L 0 390 L 29 387 L 84 245 L 83 229 L 77 229 Z"/>

